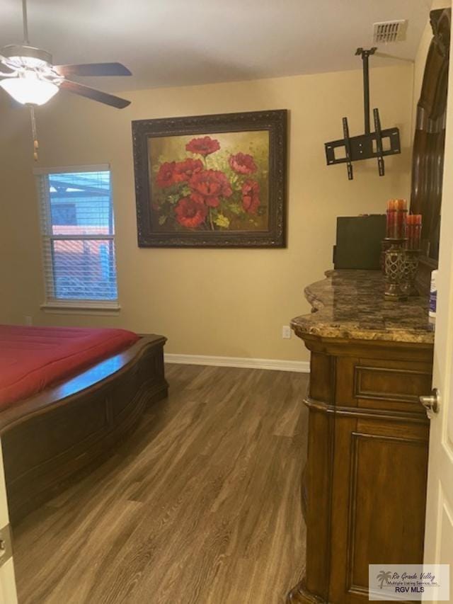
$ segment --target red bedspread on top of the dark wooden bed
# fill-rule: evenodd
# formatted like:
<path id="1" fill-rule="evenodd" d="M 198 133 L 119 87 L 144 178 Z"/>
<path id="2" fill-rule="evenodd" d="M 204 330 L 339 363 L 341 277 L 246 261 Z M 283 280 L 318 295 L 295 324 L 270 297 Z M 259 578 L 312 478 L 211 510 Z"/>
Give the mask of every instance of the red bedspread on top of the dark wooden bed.
<path id="1" fill-rule="evenodd" d="M 0 406 L 31 397 L 138 339 L 125 329 L 0 325 Z"/>

